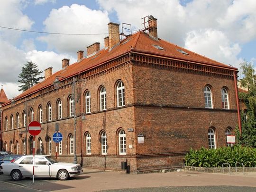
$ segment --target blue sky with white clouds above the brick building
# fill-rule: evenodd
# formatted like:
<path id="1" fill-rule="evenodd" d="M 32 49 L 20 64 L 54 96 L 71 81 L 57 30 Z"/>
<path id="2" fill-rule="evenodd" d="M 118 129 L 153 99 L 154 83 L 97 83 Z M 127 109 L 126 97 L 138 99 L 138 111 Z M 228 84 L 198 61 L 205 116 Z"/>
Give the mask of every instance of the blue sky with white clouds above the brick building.
<path id="1" fill-rule="evenodd" d="M 244 59 L 255 65 L 255 10 L 256 0 L 0 0 L 0 85 L 11 99 L 21 93 L 27 61 L 42 76 L 48 67 L 54 73 L 63 58 L 74 63 L 78 50 L 94 42 L 103 48 L 110 21 L 131 24 L 135 33 L 148 15 L 157 18 L 161 39 L 238 69 Z"/>

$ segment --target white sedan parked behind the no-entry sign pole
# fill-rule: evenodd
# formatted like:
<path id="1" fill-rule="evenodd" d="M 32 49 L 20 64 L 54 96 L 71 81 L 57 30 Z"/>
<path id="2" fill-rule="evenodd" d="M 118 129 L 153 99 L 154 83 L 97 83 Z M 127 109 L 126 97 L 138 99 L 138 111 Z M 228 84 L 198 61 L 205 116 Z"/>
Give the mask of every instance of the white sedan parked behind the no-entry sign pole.
<path id="1" fill-rule="evenodd" d="M 10 175 L 13 181 L 33 176 L 33 155 L 25 155 L 12 163 L 2 163 L 3 175 Z M 82 174 L 79 164 L 59 162 L 49 155 L 35 155 L 35 177 L 57 177 L 66 180 Z"/>

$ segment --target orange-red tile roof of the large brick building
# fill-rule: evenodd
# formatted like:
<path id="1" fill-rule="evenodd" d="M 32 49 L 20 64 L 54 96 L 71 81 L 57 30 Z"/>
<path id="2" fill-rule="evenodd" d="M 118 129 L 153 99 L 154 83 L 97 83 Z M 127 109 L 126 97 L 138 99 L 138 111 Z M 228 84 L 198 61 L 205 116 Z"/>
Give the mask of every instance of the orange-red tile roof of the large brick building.
<path id="1" fill-rule="evenodd" d="M 161 46 L 165 50 L 159 50 L 155 48 L 153 45 Z M 188 53 L 188 55 L 185 55 L 179 52 L 178 50 L 183 50 L 186 53 Z M 183 61 L 191 61 L 191 62 L 197 62 L 197 63 L 206 64 L 210 66 L 217 66 L 217 67 L 237 70 L 237 68 L 229 67 L 223 63 L 217 62 L 210 58 L 206 58 L 190 50 L 186 50 L 182 47 L 174 45 L 170 42 L 166 42 L 161 39 L 152 38 L 147 33 L 139 31 L 137 33 L 134 33 L 128 36 L 128 38 L 124 39 L 118 45 L 113 47 L 112 50 L 102 49 L 98 51 L 95 55 L 89 58 L 83 58 L 82 60 L 77 61 L 74 64 L 65 67 L 64 69 L 56 72 L 55 74 L 48 77 L 44 81 L 36 84 L 35 86 L 31 87 L 27 91 L 23 92 L 17 98 L 22 98 L 28 94 L 37 92 L 39 90 L 42 90 L 46 87 L 51 86 L 56 76 L 64 76 L 68 78 L 73 75 L 77 75 L 93 67 L 99 66 L 102 63 L 107 62 L 113 58 L 117 58 L 123 54 L 126 54 L 130 51 L 163 56 L 167 58 L 175 58 Z"/>

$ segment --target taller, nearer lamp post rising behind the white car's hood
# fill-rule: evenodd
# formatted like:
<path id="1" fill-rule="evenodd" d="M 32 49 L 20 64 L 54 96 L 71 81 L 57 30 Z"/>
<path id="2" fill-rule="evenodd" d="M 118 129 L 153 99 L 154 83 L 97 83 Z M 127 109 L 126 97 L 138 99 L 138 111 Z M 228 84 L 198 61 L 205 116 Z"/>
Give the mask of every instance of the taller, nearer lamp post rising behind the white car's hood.
<path id="1" fill-rule="evenodd" d="M 55 88 L 59 88 L 60 85 L 60 81 L 59 81 L 59 77 L 63 78 L 65 80 L 68 81 L 68 83 L 71 85 L 72 87 L 72 100 L 73 100 L 73 117 L 74 117 L 74 161 L 73 163 L 77 163 L 77 155 L 76 155 L 76 113 L 75 113 L 75 109 L 76 109 L 76 101 L 75 101 L 75 84 L 76 81 L 84 81 L 84 79 L 76 79 L 75 77 L 73 77 L 73 80 L 68 80 L 67 78 L 63 77 L 63 76 L 56 76 L 53 84 L 55 86 Z"/>

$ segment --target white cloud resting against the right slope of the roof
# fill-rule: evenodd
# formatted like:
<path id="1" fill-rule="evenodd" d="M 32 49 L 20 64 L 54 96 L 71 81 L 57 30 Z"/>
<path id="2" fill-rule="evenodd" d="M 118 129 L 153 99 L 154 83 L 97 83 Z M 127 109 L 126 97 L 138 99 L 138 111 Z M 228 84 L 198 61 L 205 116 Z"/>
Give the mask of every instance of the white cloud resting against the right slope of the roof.
<path id="1" fill-rule="evenodd" d="M 241 51 L 238 43 L 230 42 L 229 38 L 218 30 L 190 31 L 187 33 L 185 46 L 188 50 L 233 67 L 239 67 L 239 63 L 242 61 L 241 58 L 238 58 Z"/>

